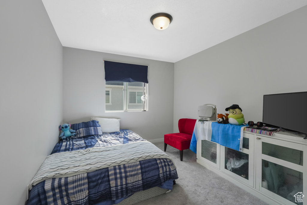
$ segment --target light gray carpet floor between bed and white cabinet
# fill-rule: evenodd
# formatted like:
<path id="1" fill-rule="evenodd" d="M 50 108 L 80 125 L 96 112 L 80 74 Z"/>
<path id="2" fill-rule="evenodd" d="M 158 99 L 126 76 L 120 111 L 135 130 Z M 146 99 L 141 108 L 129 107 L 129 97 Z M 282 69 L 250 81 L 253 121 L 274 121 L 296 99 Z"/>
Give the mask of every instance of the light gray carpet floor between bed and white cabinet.
<path id="1" fill-rule="evenodd" d="M 164 143 L 154 143 L 164 150 Z M 180 161 L 179 150 L 167 146 L 168 154 L 177 166 L 179 179 L 173 186 L 173 191 L 136 203 L 136 205 L 187 205 L 187 204 L 227 204 L 265 205 L 264 201 L 241 189 L 213 171 L 204 168 L 196 162 L 196 154 L 187 149 L 183 151 L 183 161 Z"/>

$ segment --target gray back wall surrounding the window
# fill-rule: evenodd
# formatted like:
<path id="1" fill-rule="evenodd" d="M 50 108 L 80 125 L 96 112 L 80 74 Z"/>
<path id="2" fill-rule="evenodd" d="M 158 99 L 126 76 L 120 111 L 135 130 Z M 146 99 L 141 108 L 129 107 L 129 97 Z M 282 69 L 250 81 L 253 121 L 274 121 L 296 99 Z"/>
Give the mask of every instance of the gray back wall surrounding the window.
<path id="1" fill-rule="evenodd" d="M 149 66 L 148 111 L 105 112 L 103 60 Z M 121 129 L 153 141 L 173 131 L 174 63 L 63 47 L 63 68 L 64 122 L 120 118 Z"/>

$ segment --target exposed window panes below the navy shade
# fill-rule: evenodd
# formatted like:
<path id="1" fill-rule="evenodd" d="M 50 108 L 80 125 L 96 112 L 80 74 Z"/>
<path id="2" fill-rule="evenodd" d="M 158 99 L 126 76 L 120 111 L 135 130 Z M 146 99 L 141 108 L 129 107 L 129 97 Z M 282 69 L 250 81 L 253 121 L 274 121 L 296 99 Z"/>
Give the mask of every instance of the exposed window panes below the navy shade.
<path id="1" fill-rule="evenodd" d="M 143 95 L 148 96 L 147 83 L 107 81 L 105 102 L 106 112 L 148 110 L 148 99 L 142 101 L 141 97 Z"/>

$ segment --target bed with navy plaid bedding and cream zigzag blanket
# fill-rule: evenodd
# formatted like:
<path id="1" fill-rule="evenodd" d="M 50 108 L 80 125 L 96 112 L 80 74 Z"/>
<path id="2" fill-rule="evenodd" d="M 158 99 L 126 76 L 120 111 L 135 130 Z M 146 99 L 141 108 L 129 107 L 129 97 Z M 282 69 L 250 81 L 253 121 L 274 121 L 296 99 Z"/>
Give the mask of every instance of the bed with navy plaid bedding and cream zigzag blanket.
<path id="1" fill-rule="evenodd" d="M 122 204 L 172 190 L 178 175 L 168 155 L 131 130 L 103 133 L 99 123 L 72 125 L 76 137 L 60 140 L 30 182 L 28 205 Z"/>

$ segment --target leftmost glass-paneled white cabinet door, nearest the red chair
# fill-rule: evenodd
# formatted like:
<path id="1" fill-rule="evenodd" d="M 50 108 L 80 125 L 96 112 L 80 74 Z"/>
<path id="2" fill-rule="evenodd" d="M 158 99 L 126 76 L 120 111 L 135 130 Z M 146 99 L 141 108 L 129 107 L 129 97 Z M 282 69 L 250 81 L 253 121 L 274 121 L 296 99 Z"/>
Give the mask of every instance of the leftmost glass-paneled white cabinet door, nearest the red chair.
<path id="1" fill-rule="evenodd" d="M 220 169 L 220 144 L 208 140 L 197 142 L 197 159 Z"/>

